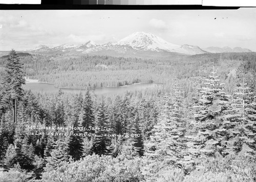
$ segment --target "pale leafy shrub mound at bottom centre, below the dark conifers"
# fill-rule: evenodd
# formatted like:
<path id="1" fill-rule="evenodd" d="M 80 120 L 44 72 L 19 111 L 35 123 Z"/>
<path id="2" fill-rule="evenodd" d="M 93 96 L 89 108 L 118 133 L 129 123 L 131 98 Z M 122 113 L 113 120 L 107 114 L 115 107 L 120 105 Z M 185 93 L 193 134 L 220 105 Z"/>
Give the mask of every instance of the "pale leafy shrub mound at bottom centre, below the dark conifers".
<path id="1" fill-rule="evenodd" d="M 142 180 L 140 159 L 123 160 L 111 156 L 88 155 L 80 161 L 62 162 L 61 167 L 44 172 L 42 181 L 138 182 Z"/>

